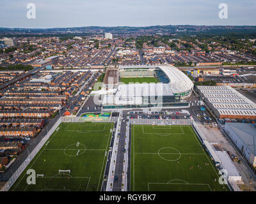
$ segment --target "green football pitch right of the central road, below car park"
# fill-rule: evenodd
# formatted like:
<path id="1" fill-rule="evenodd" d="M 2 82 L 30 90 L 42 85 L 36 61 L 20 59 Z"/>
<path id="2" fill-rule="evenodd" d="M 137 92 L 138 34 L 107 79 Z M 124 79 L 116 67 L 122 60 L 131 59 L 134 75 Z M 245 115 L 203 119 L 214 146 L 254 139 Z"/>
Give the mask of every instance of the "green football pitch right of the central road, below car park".
<path id="1" fill-rule="evenodd" d="M 229 191 L 191 126 L 133 125 L 131 191 Z"/>

